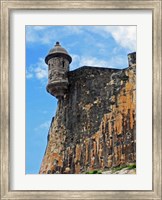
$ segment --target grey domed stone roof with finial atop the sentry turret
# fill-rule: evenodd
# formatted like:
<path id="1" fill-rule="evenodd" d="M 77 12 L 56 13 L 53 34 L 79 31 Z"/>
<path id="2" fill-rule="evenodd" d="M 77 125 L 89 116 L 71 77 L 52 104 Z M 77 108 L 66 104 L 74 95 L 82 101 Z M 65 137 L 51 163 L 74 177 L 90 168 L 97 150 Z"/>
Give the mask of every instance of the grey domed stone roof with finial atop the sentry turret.
<path id="1" fill-rule="evenodd" d="M 56 42 L 54 48 L 52 48 L 52 49 L 49 51 L 48 55 L 46 56 L 45 62 L 46 62 L 46 64 L 48 64 L 48 60 L 49 60 L 49 59 L 51 59 L 51 58 L 53 58 L 53 57 L 60 57 L 60 56 L 67 58 L 68 61 L 69 61 L 69 63 L 71 63 L 71 61 L 72 61 L 71 56 L 70 56 L 70 55 L 68 54 L 68 52 L 60 45 L 59 42 Z"/>

